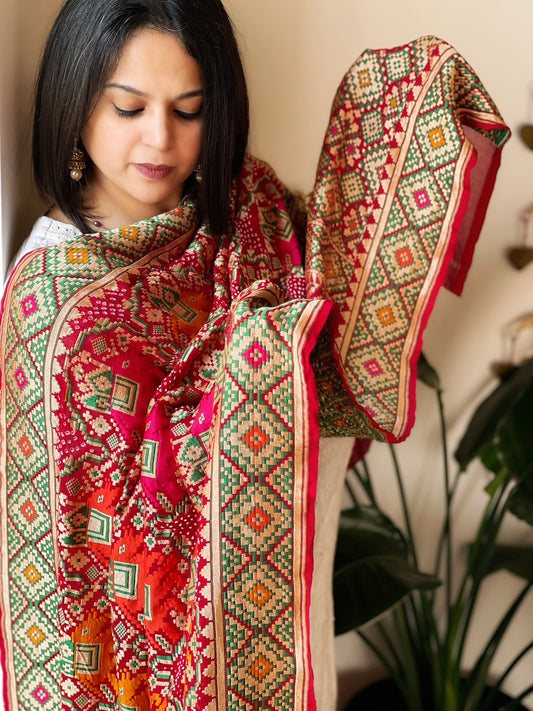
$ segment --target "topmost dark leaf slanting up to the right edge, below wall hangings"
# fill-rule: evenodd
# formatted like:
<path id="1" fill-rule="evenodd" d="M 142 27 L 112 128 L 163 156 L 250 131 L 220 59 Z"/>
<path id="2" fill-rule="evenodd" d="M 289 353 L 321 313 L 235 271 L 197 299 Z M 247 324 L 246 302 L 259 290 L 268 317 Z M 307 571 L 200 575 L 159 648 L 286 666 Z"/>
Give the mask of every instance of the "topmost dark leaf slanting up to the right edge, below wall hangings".
<path id="1" fill-rule="evenodd" d="M 455 458 L 461 469 L 466 469 L 483 445 L 494 438 L 502 420 L 532 384 L 533 358 L 530 358 L 516 368 L 479 405 L 455 451 Z"/>

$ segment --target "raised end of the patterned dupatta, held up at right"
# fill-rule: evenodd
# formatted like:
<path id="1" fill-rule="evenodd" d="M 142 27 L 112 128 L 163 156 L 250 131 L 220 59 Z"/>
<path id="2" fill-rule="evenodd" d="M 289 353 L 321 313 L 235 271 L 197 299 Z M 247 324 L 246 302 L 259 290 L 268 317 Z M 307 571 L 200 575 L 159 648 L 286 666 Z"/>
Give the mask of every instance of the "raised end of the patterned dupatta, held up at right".
<path id="1" fill-rule="evenodd" d="M 475 162 L 470 155 L 487 153 L 485 194 L 472 206 L 481 217 L 508 138 L 478 77 L 442 40 L 421 37 L 392 50 L 367 50 L 347 73 L 311 195 L 307 243 L 307 295 L 337 303 L 332 331 L 344 371 L 331 377 L 321 341 L 314 355 L 324 433 L 336 434 L 344 421 L 363 436 L 379 432 L 397 441 L 408 434 L 423 327 L 440 285 L 460 293 L 481 227 L 476 218 L 461 232 Z M 344 205 L 330 199 L 339 175 L 342 185 L 357 185 L 343 190 Z M 348 220 L 339 219 L 343 212 Z M 324 280 L 332 235 L 343 259 Z M 346 401 L 339 417 L 346 382 L 358 407 Z"/>

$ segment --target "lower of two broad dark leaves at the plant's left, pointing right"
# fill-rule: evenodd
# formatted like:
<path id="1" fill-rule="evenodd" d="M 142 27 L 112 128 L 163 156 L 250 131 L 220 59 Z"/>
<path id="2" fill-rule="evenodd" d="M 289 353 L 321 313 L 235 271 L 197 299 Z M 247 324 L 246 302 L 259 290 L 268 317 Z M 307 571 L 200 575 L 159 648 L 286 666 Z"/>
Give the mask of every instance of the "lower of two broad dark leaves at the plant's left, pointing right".
<path id="1" fill-rule="evenodd" d="M 335 634 L 370 622 L 413 590 L 439 585 L 438 578 L 421 573 L 400 556 L 376 555 L 349 563 L 333 576 Z"/>

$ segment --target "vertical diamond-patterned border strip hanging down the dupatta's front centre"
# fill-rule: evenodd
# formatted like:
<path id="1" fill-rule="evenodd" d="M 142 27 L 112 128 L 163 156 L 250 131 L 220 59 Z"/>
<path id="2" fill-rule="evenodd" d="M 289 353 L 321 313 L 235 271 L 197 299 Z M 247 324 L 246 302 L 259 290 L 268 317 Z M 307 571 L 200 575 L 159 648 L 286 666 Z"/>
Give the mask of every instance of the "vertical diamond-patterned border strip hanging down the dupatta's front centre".
<path id="1" fill-rule="evenodd" d="M 265 319 L 261 309 L 250 311 L 246 303 L 235 309 L 225 364 L 220 413 L 223 426 L 218 438 L 226 456 L 221 459 L 220 477 L 222 481 L 227 476 L 233 478 L 235 463 L 242 461 L 240 455 L 231 456 L 232 446 L 236 450 L 248 450 L 246 469 L 256 472 L 256 476 L 243 481 L 237 490 L 221 487 L 221 491 L 228 492 L 221 500 L 224 512 L 221 519 L 222 569 L 233 569 L 237 546 L 250 553 L 238 572 L 227 579 L 223 605 L 229 613 L 224 617 L 226 637 L 231 639 L 237 634 L 232 644 L 234 656 L 228 676 L 230 698 L 239 698 L 250 708 L 258 684 L 264 689 L 264 708 L 273 708 L 273 700 L 282 690 L 292 699 L 291 703 L 295 703 L 294 666 L 285 644 L 286 636 L 294 638 L 298 635 L 301 601 L 298 596 L 291 596 L 285 581 L 301 565 L 300 551 L 308 545 L 307 529 L 295 514 L 303 503 L 301 497 L 306 490 L 309 472 L 305 467 L 301 470 L 304 477 L 301 482 L 287 480 L 279 492 L 290 502 L 290 507 L 284 505 L 272 488 L 270 472 L 277 470 L 280 461 L 284 464 L 282 472 L 286 471 L 287 465 L 289 470 L 294 468 L 297 439 L 290 426 L 293 420 L 282 426 L 287 418 L 284 413 L 276 416 L 277 399 L 269 399 L 274 409 L 265 413 L 259 403 L 263 393 L 274 390 L 283 403 L 293 396 L 293 389 L 297 387 L 293 379 L 293 354 L 299 350 L 299 328 L 307 309 L 305 301 L 272 307 L 268 312 L 269 321 L 275 328 L 269 331 L 268 338 L 263 335 Z M 261 343 L 262 346 L 262 357 L 255 359 L 255 368 L 247 372 L 246 379 L 240 372 L 243 342 Z M 253 347 L 257 348 L 256 345 Z M 245 351 L 245 358 L 250 358 L 250 348 Z M 269 367 L 274 359 L 278 364 L 285 364 L 284 367 Z M 231 395 L 224 396 L 225 384 L 231 385 L 235 381 L 239 382 L 241 394 L 247 394 L 237 402 Z M 229 393 L 231 389 L 228 387 Z M 243 440 L 244 448 L 237 444 Z M 275 457 L 270 451 L 271 442 L 275 442 Z M 300 503 L 296 505 L 297 502 Z M 284 509 L 286 515 L 282 516 Z M 284 546 L 288 539 L 290 543 Z M 276 620 L 281 614 L 284 614 L 285 627 L 280 636 Z M 249 630 L 249 639 L 253 643 L 243 637 L 241 630 Z"/>

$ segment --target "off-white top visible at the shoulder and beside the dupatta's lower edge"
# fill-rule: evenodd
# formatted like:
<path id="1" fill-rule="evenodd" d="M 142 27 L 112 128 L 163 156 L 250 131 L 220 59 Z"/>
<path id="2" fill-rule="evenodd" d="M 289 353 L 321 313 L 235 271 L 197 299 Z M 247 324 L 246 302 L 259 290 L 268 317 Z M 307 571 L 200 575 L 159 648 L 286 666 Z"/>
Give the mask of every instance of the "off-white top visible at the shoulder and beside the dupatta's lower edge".
<path id="1" fill-rule="evenodd" d="M 13 260 L 38 247 L 59 244 L 80 231 L 74 225 L 40 217 Z M 311 585 L 310 633 L 315 696 L 319 711 L 336 708 L 333 645 L 333 559 L 341 496 L 353 437 L 321 437 L 315 502 L 314 570 Z"/>

